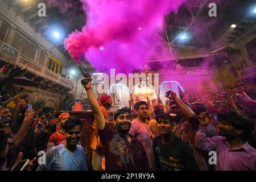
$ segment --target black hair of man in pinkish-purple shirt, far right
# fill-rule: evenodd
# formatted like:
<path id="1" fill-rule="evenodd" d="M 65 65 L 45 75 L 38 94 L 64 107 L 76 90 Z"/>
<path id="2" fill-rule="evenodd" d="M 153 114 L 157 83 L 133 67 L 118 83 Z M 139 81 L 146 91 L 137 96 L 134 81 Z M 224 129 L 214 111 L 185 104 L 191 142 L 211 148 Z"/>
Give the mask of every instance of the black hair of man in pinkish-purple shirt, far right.
<path id="1" fill-rule="evenodd" d="M 252 120 L 243 118 L 234 112 L 218 114 L 218 121 L 225 121 L 229 125 L 232 125 L 235 129 L 243 130 L 242 139 L 245 142 L 247 139 L 251 138 L 255 125 Z"/>

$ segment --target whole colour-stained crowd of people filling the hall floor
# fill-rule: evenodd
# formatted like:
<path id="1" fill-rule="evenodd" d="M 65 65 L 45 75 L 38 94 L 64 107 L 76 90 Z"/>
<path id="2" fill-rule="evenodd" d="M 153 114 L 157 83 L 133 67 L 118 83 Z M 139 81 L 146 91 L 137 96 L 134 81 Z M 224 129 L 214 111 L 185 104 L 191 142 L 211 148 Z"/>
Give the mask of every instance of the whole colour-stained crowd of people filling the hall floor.
<path id="1" fill-rule="evenodd" d="M 14 170 L 29 159 L 24 170 L 90 169 L 81 146 L 81 120 L 63 112 L 35 113 L 26 97 L 10 97 L 3 87 L 24 68 L 3 77 L 0 101 L 0 171 Z M 110 112 L 112 98 L 96 98 L 90 77 L 83 84 L 88 100 L 64 101 L 63 110 L 94 111 L 92 169 L 95 171 L 226 171 L 256 170 L 255 87 L 228 93 L 166 93 L 167 102 L 136 100 L 132 109 Z M 15 101 L 11 112 L 7 105 Z M 71 108 L 69 108 L 71 106 Z M 86 106 L 87 107 L 87 106 Z M 86 110 L 87 110 L 86 109 Z M 39 159 L 39 152 L 44 152 Z M 214 151 L 216 156 L 212 160 Z"/>

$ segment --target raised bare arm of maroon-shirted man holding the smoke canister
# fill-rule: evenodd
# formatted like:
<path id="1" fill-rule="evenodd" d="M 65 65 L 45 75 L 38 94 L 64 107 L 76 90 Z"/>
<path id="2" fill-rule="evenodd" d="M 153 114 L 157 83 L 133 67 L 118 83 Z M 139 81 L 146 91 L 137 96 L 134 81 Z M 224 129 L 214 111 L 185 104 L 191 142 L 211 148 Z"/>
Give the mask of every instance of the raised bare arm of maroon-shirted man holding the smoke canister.
<path id="1" fill-rule="evenodd" d="M 87 79 L 91 80 L 90 77 L 89 78 L 85 77 L 81 80 L 81 84 L 82 84 L 82 86 L 84 86 L 84 88 L 86 90 L 89 104 L 94 111 L 94 118 L 96 121 L 97 129 L 103 130 L 105 127 L 105 124 L 106 124 L 105 117 L 104 117 L 104 115 L 100 109 L 100 106 L 98 105 L 98 101 L 96 100 L 96 97 L 94 96 L 94 93 L 92 91 L 91 81 L 89 81 L 88 84 L 86 84 L 86 85 L 83 84 L 83 80 L 87 80 Z"/>

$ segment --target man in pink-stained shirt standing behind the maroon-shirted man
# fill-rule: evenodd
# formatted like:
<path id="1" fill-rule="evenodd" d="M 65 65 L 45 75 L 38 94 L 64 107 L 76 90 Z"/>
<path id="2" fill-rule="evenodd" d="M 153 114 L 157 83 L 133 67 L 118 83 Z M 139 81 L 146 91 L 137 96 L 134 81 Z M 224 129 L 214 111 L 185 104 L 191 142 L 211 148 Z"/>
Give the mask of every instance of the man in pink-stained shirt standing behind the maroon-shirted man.
<path id="1" fill-rule="evenodd" d="M 147 103 L 145 101 L 136 102 L 134 104 L 134 109 L 136 110 L 137 118 L 131 121 L 132 126 L 129 133 L 143 144 L 143 147 L 147 153 L 148 163 L 152 169 L 154 164 L 152 139 L 154 135 L 147 125 Z"/>

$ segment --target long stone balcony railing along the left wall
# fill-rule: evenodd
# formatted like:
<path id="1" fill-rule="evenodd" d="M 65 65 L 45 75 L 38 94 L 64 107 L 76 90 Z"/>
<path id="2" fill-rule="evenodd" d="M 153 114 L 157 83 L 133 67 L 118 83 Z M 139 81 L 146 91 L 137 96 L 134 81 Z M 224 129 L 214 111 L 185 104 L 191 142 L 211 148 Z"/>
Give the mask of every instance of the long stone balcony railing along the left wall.
<path id="1" fill-rule="evenodd" d="M 28 64 L 27 71 L 34 73 L 42 78 L 53 81 L 56 84 L 64 86 L 65 88 L 72 89 L 71 82 L 67 78 L 61 77 L 59 74 L 52 72 L 48 68 L 44 67 L 28 59 L 27 57 L 20 55 L 20 51 L 9 46 L 6 43 L 0 41 L 0 59 L 7 61 L 8 63 L 23 67 L 24 64 Z"/>

